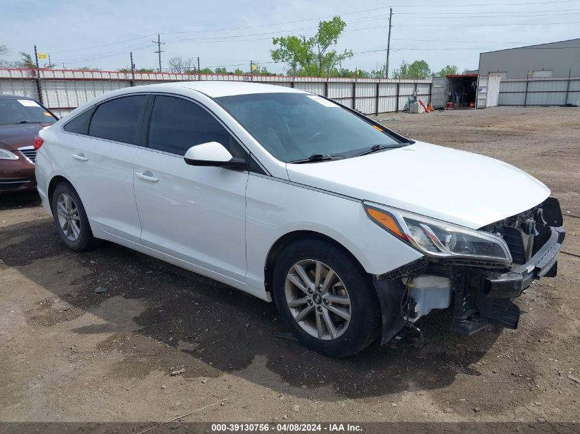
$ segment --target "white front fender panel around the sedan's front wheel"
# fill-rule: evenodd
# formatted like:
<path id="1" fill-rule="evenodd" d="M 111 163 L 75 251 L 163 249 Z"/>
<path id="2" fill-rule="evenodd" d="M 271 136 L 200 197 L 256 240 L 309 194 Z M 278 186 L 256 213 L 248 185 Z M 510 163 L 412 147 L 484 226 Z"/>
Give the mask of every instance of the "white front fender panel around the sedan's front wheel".
<path id="1" fill-rule="evenodd" d="M 298 206 L 297 206 L 298 204 Z M 246 189 L 246 282 L 265 289 L 264 267 L 277 241 L 310 231 L 343 245 L 369 274 L 384 274 L 422 254 L 374 224 L 362 202 L 267 176 L 250 176 Z"/>

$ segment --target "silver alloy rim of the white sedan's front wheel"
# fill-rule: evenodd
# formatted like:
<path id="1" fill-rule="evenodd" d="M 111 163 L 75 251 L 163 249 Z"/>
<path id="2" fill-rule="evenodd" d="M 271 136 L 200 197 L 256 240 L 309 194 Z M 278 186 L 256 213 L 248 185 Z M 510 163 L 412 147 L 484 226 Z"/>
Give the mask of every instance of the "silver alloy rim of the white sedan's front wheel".
<path id="1" fill-rule="evenodd" d="M 305 259 L 286 276 L 286 302 L 294 320 L 308 334 L 332 340 L 342 336 L 351 320 L 351 300 L 343 280 L 321 261 Z"/>

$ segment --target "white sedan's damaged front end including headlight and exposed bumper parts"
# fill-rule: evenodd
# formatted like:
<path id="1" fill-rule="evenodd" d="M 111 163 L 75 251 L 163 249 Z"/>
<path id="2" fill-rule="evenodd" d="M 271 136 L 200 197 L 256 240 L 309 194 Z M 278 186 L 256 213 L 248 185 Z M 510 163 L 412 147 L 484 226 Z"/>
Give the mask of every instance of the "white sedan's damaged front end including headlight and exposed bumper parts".
<path id="1" fill-rule="evenodd" d="M 452 330 L 472 335 L 496 324 L 517 328 L 513 299 L 531 282 L 554 277 L 566 232 L 559 202 L 542 204 L 472 230 L 395 208 L 364 204 L 369 218 L 424 256 L 375 276 L 382 343 L 433 309 L 452 306 Z"/>

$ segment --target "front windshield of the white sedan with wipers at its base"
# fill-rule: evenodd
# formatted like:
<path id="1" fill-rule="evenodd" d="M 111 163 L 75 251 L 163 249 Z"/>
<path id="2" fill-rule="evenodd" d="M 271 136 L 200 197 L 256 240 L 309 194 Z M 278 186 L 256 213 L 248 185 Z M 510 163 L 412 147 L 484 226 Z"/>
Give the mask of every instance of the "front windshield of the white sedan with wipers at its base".
<path id="1" fill-rule="evenodd" d="M 345 158 L 376 145 L 401 145 L 381 128 L 318 95 L 258 93 L 216 101 L 284 162 L 308 160 L 317 154 Z"/>

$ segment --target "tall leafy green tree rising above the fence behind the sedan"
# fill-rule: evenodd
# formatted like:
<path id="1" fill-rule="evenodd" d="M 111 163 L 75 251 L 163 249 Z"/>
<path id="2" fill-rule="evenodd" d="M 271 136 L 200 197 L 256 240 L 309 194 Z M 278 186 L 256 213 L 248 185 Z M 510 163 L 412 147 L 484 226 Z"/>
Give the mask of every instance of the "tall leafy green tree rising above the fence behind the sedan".
<path id="1" fill-rule="evenodd" d="M 327 68 L 339 67 L 344 60 L 353 56 L 351 50 L 338 53 L 336 49 L 331 49 L 338 43 L 346 25 L 340 16 L 334 16 L 330 21 L 320 21 L 318 32 L 310 38 L 302 35 L 272 38 L 272 43 L 277 46 L 270 51 L 272 60 L 288 63 L 288 72 L 293 75 L 321 77 Z"/>

